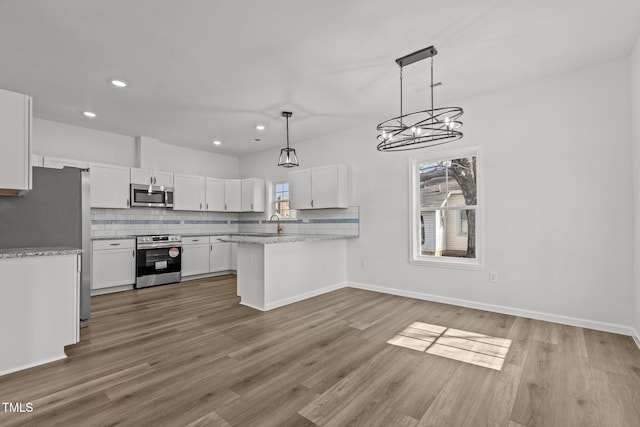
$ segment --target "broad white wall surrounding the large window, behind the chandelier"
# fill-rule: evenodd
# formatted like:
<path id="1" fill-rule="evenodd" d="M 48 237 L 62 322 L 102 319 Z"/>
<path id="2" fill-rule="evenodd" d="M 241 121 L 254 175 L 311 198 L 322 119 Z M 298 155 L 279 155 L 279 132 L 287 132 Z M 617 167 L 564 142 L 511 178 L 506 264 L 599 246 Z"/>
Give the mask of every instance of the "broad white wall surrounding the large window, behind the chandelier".
<path id="1" fill-rule="evenodd" d="M 360 238 L 349 242 L 348 281 L 631 326 L 629 82 L 629 61 L 621 59 L 458 103 L 465 137 L 451 147 L 482 149 L 482 271 L 408 263 L 408 158 L 423 150 L 377 152 L 375 126 L 386 117 L 293 141 L 301 167 L 352 165 Z M 390 107 L 389 116 L 395 113 Z M 243 157 L 240 172 L 284 176 L 277 155 Z M 489 271 L 497 283 L 489 283 Z"/>

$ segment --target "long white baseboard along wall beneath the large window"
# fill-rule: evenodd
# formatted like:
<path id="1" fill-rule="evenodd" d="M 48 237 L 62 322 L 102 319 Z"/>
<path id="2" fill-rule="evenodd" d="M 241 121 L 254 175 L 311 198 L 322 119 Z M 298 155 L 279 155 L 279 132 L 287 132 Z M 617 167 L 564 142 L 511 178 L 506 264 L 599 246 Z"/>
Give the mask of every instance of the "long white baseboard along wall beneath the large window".
<path id="1" fill-rule="evenodd" d="M 478 310 L 492 311 L 495 313 L 510 314 L 513 316 L 526 317 L 529 319 L 544 320 L 547 322 L 561 323 L 563 325 L 578 326 L 581 328 L 595 329 L 598 331 L 613 332 L 616 334 L 628 335 L 633 337 L 636 344 L 640 348 L 640 336 L 638 335 L 637 331 L 630 326 L 616 325 L 614 323 L 598 322 L 594 320 L 580 319 L 577 317 L 562 316 L 558 314 L 544 313 L 540 311 L 523 310 L 523 309 L 514 308 L 514 307 L 506 307 L 502 305 L 485 304 L 481 302 L 469 301 L 464 299 L 443 297 L 440 295 L 405 291 L 402 289 L 367 285 L 364 283 L 349 282 L 347 286 L 350 288 L 364 289 L 367 291 L 381 292 L 385 294 L 398 295 L 402 297 L 421 299 L 425 301 L 440 302 L 443 304 L 451 304 L 451 305 L 457 305 L 461 307 L 475 308 Z"/>

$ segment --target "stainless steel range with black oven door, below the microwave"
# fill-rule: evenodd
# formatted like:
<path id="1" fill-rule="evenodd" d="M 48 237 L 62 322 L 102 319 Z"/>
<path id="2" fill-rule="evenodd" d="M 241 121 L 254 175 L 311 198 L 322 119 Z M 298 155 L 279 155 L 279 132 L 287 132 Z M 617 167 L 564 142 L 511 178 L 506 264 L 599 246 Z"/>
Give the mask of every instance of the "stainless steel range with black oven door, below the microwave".
<path id="1" fill-rule="evenodd" d="M 136 289 L 180 281 L 180 236 L 138 236 L 136 241 Z"/>

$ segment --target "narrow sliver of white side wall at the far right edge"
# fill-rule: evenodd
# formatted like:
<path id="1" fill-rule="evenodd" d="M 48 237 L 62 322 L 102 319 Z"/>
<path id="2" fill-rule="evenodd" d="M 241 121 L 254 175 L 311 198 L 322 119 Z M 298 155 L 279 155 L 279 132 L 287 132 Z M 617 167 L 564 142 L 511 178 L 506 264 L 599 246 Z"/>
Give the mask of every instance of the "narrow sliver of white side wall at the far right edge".
<path id="1" fill-rule="evenodd" d="M 631 114 L 633 138 L 633 201 L 634 201 L 634 254 L 633 279 L 635 287 L 635 329 L 640 340 L 640 37 L 631 55 Z M 640 341 L 638 342 L 640 345 Z"/>

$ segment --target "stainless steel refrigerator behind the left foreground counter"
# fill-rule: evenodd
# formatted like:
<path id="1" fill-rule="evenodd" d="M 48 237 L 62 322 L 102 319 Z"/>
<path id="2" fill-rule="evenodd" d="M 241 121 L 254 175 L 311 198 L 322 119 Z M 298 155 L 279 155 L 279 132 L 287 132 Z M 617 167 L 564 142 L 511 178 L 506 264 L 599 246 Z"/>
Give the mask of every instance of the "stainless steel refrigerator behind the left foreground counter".
<path id="1" fill-rule="evenodd" d="M 0 197 L 0 249 L 81 248 L 80 321 L 91 317 L 91 199 L 86 169 L 33 168 L 33 189 Z"/>

